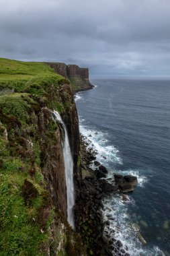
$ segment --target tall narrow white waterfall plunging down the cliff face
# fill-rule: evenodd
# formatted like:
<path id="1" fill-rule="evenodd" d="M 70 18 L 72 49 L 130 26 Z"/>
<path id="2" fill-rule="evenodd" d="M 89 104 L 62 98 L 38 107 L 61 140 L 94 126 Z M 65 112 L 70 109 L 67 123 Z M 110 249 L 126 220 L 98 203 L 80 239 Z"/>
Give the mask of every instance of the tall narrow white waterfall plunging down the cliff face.
<path id="1" fill-rule="evenodd" d="M 60 115 L 55 110 L 52 112 L 52 118 L 54 121 L 59 122 L 65 129 L 65 142 L 62 144 L 62 154 L 65 162 L 65 179 L 67 186 L 67 220 L 69 224 L 74 228 L 74 215 L 73 206 L 75 204 L 74 195 L 74 182 L 73 182 L 73 158 L 71 154 L 71 148 L 69 145 L 69 137 L 65 123 L 63 123 Z"/>

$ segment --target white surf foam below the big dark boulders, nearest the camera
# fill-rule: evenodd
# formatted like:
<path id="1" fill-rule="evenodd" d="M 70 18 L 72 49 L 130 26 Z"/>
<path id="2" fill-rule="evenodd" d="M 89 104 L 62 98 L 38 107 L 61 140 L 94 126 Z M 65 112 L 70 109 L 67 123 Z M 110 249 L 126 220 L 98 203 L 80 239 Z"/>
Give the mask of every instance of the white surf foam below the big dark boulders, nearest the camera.
<path id="1" fill-rule="evenodd" d="M 108 231 L 110 237 L 121 241 L 123 248 L 130 256 L 163 256 L 163 252 L 159 247 L 145 249 L 142 243 L 138 240 L 138 232 L 134 231 L 130 216 L 128 214 L 128 206 L 134 204 L 134 199 L 131 196 L 126 196 L 128 201 L 123 201 L 121 195 L 105 199 L 103 201 L 105 210 L 103 212 L 104 220 L 110 221 L 110 226 L 105 225 L 105 231 Z M 109 217 L 108 217 L 108 216 Z M 110 220 L 110 216 L 112 216 Z M 128 249 L 127 249 L 128 247 Z"/>

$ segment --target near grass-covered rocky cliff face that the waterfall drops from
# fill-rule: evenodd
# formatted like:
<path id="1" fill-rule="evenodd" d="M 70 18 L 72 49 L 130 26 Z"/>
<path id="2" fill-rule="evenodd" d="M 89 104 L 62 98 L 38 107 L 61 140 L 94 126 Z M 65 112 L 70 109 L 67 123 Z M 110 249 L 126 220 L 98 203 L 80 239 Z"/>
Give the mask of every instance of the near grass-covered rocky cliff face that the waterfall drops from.
<path id="1" fill-rule="evenodd" d="M 81 237 L 67 222 L 65 135 L 52 119 L 52 110 L 57 110 L 67 127 L 79 187 L 73 89 L 68 79 L 44 63 L 0 59 L 0 64 L 0 251 L 87 255 Z M 65 65 L 60 69 L 65 73 Z"/>

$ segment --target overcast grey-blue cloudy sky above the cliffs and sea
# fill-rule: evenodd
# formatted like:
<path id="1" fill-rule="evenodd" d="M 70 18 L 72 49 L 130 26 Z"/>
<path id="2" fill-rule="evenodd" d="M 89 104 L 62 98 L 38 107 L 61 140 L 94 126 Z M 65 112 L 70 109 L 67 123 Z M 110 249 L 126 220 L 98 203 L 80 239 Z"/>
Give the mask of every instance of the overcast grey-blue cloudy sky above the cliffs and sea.
<path id="1" fill-rule="evenodd" d="M 169 0 L 0 0 L 0 56 L 170 75 Z"/>

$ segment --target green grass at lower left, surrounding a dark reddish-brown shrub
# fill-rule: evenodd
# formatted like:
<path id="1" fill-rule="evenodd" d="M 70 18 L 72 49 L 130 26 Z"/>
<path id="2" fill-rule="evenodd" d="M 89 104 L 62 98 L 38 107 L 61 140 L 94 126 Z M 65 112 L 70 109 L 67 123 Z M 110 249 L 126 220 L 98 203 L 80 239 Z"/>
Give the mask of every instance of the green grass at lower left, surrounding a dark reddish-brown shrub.
<path id="1" fill-rule="evenodd" d="M 46 232 L 36 222 L 37 212 L 42 205 L 42 187 L 36 179 L 30 180 L 38 189 L 38 197 L 31 207 L 26 207 L 22 197 L 22 185 L 30 179 L 28 172 L 19 171 L 26 166 L 19 159 L 6 160 L 0 174 L 0 255 L 43 255 L 40 244 L 46 240 Z M 26 166 L 28 167 L 28 166 Z"/>

